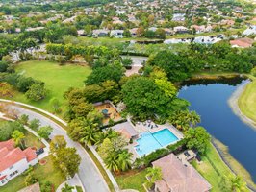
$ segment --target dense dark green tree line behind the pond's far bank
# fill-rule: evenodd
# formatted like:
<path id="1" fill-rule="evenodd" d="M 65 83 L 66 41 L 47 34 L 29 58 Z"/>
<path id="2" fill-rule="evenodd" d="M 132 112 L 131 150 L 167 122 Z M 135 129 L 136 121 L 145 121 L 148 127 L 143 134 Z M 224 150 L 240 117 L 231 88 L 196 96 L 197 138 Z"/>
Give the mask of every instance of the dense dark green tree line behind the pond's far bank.
<path id="1" fill-rule="evenodd" d="M 251 52 L 231 48 L 228 43 L 191 44 L 187 52 L 161 51 L 148 60 L 148 65 L 163 68 L 170 81 L 179 82 L 201 71 L 247 73 L 256 65 Z"/>

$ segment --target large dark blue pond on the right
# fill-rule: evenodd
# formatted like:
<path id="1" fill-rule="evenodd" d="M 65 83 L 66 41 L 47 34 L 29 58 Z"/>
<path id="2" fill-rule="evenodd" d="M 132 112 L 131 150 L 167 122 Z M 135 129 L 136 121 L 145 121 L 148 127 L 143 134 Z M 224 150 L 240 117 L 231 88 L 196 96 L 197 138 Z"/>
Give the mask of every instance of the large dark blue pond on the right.
<path id="1" fill-rule="evenodd" d="M 243 123 L 228 105 L 232 93 L 247 82 L 242 78 L 185 82 L 179 97 L 190 101 L 190 109 L 201 116 L 200 125 L 228 146 L 229 153 L 256 182 L 256 131 Z"/>

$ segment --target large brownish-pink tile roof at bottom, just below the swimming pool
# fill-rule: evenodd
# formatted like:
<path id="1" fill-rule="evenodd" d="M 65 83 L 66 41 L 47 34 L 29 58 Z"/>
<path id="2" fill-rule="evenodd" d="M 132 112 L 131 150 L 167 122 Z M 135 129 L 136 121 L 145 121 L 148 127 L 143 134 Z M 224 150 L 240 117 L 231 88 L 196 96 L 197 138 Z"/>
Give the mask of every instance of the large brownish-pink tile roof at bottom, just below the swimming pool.
<path id="1" fill-rule="evenodd" d="M 156 182 L 161 192 L 206 192 L 211 189 L 211 185 L 192 165 L 183 165 L 173 154 L 160 158 L 152 164 L 162 169 L 163 179 Z"/>

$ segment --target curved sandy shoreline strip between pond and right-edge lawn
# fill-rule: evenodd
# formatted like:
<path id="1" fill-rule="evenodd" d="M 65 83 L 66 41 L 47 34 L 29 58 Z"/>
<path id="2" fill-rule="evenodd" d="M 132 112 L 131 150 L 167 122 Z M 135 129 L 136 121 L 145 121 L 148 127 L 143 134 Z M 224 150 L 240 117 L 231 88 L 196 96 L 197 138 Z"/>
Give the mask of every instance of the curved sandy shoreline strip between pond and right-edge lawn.
<path id="1" fill-rule="evenodd" d="M 246 82 L 244 84 L 241 84 L 228 99 L 228 105 L 232 109 L 232 111 L 243 121 L 243 123 L 247 124 L 249 127 L 256 130 L 256 122 L 250 119 L 249 117 L 245 116 L 238 105 L 240 96 L 242 95 L 246 85 L 250 83 L 251 82 Z"/>

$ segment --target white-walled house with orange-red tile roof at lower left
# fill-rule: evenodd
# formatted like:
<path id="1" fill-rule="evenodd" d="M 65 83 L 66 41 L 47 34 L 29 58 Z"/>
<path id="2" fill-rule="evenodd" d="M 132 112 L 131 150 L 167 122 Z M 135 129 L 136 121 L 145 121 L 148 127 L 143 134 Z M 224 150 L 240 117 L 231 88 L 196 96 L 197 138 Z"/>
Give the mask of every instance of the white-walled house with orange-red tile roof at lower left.
<path id="1" fill-rule="evenodd" d="M 22 151 L 15 148 L 14 141 L 8 140 L 0 142 L 0 186 L 5 185 L 9 180 L 23 173 L 38 163 L 36 151 L 27 148 Z"/>

